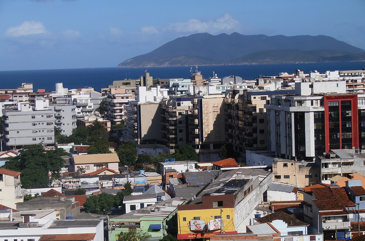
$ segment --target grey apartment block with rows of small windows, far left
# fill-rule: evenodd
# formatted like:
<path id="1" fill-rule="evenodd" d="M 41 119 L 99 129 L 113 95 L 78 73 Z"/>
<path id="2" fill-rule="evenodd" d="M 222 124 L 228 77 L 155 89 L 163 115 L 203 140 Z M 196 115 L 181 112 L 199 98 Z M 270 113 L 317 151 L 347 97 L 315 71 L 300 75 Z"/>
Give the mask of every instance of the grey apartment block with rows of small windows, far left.
<path id="1" fill-rule="evenodd" d="M 23 145 L 54 144 L 54 111 L 34 110 L 18 103 L 18 110 L 3 110 L 5 145 L 15 149 Z"/>

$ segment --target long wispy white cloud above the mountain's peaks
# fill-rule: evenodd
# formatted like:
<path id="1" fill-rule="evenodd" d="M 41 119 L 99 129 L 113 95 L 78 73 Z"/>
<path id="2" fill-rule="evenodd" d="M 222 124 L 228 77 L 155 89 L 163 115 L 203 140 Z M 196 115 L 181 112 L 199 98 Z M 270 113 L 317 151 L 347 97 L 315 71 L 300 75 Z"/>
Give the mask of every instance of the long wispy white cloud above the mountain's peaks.
<path id="1" fill-rule="evenodd" d="M 166 28 L 168 31 L 176 32 L 219 32 L 222 30 L 232 30 L 237 27 L 239 22 L 229 14 L 208 22 L 202 22 L 199 19 L 190 19 L 188 22 L 178 22 L 169 24 Z"/>

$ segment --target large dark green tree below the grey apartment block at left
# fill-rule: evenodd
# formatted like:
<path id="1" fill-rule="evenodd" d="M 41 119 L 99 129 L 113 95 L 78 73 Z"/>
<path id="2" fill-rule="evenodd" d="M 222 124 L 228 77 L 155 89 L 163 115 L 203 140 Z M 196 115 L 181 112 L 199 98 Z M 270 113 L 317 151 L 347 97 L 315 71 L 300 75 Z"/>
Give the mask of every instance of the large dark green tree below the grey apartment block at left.
<path id="1" fill-rule="evenodd" d="M 24 146 L 19 155 L 10 158 L 2 168 L 22 172 L 20 178 L 23 188 L 48 187 L 50 178 L 60 177 L 60 169 L 64 165 L 62 156 L 64 149 L 43 150 L 41 145 Z"/>

